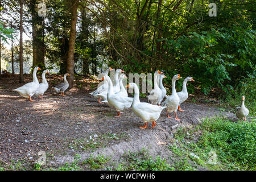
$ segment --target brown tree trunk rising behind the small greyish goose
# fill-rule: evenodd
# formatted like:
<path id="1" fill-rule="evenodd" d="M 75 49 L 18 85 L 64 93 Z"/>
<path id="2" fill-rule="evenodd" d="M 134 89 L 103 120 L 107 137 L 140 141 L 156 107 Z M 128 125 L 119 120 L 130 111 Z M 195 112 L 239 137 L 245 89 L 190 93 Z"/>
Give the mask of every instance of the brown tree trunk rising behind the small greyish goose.
<path id="1" fill-rule="evenodd" d="M 76 41 L 76 22 L 77 22 L 77 7 L 79 5 L 79 1 L 74 0 L 72 2 L 72 10 L 71 10 L 71 29 L 68 43 L 68 60 L 67 60 L 67 73 L 70 76 L 67 77 L 69 88 L 73 87 L 74 80 L 74 52 L 75 52 L 75 41 Z"/>

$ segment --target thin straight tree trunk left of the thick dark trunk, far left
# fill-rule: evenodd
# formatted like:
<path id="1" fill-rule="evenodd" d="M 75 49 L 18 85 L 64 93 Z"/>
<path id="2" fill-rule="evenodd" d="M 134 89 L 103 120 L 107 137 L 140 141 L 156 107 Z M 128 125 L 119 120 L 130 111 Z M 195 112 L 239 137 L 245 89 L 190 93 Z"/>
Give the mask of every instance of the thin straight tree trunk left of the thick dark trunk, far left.
<path id="1" fill-rule="evenodd" d="M 19 82 L 23 83 L 23 43 L 22 43 L 22 34 L 23 34 L 23 0 L 19 0 L 20 5 L 20 20 L 19 20 Z"/>

